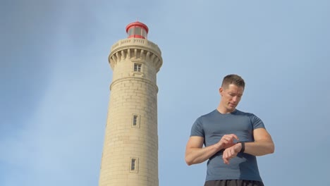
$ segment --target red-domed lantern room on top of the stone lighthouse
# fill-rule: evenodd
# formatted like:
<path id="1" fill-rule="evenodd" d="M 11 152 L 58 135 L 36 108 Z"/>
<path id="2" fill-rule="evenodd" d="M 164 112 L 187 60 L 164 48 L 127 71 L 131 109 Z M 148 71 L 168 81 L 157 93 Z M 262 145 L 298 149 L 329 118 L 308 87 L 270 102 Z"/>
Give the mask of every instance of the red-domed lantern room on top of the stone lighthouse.
<path id="1" fill-rule="evenodd" d="M 141 22 L 134 22 L 130 23 L 126 26 L 126 32 L 128 34 L 128 38 L 142 38 L 147 39 L 148 35 L 148 27 L 147 25 L 141 23 Z"/>

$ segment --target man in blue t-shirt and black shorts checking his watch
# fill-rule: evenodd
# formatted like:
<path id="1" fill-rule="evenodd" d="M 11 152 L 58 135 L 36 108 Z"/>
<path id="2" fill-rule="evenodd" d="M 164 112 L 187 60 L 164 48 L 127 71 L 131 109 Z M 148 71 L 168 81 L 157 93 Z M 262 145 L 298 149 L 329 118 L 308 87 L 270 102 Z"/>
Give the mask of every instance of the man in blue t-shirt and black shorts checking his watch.
<path id="1" fill-rule="evenodd" d="M 244 87 L 239 75 L 224 77 L 218 108 L 193 124 L 185 161 L 190 166 L 208 159 L 204 186 L 264 185 L 256 156 L 274 153 L 274 143 L 262 120 L 236 109 Z"/>

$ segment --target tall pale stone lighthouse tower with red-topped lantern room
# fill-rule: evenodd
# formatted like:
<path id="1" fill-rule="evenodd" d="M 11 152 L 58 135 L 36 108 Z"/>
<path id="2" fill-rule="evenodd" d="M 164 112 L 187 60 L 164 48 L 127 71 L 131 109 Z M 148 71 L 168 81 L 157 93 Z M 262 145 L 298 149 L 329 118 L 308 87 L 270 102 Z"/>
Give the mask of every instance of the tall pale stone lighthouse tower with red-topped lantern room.
<path id="1" fill-rule="evenodd" d="M 163 63 L 147 25 L 126 27 L 111 47 L 113 70 L 99 186 L 158 186 L 157 72 Z"/>

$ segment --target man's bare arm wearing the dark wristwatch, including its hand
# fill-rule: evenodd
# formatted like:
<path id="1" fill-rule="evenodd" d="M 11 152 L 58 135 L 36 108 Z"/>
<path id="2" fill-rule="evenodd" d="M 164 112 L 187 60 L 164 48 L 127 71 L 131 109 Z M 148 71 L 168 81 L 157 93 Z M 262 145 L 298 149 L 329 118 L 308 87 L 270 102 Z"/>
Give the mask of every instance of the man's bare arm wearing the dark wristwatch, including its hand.
<path id="1" fill-rule="evenodd" d="M 271 135 L 264 128 L 257 128 L 253 130 L 253 137 L 255 142 L 246 142 L 244 153 L 253 156 L 263 156 L 266 154 L 274 153 L 274 142 L 271 140 Z M 224 163 L 229 164 L 229 160 L 237 156 L 238 152 L 242 149 L 242 144 L 238 143 L 224 151 L 222 159 Z"/>

